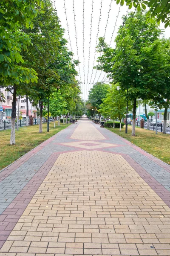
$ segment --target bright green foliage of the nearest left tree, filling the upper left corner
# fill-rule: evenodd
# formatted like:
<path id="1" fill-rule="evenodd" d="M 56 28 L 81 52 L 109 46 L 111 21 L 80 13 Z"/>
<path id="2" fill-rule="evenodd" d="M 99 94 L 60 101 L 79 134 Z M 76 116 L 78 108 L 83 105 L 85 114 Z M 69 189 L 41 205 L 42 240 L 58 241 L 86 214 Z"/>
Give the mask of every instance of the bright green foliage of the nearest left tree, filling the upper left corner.
<path id="1" fill-rule="evenodd" d="M 40 5 L 43 2 L 38 0 Z M 8 86 L 37 81 L 33 69 L 22 67 L 21 51 L 27 50 L 31 40 L 21 26 L 33 28 L 31 19 L 37 15 L 33 0 L 1 0 L 0 2 L 0 82 Z"/>

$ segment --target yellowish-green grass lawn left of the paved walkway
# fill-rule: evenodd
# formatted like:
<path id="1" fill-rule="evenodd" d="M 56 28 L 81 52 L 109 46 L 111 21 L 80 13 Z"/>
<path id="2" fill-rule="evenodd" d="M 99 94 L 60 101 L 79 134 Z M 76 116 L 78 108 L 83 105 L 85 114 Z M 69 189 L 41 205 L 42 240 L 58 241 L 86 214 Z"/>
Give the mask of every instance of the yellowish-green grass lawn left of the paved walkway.
<path id="1" fill-rule="evenodd" d="M 10 145 L 11 130 L 0 131 L 0 170 L 71 124 L 57 125 L 58 122 L 54 128 L 54 122 L 51 122 L 47 133 L 47 123 L 42 124 L 42 134 L 39 133 L 39 125 L 21 127 L 16 131 L 16 145 Z"/>

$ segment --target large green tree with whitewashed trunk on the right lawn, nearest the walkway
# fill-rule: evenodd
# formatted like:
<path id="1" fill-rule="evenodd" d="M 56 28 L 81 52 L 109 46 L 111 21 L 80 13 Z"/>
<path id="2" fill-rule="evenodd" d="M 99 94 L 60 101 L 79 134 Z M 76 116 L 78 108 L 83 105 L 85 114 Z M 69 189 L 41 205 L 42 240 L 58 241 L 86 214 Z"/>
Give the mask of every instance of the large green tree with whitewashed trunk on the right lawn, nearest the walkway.
<path id="1" fill-rule="evenodd" d="M 142 84 L 141 48 L 150 46 L 161 33 L 158 26 L 145 22 L 146 14 L 131 12 L 123 17 L 116 37 L 116 48 L 111 49 L 99 38 L 97 69 L 104 70 L 122 90 L 128 90 L 128 99 L 133 101 L 132 136 L 135 136 L 137 99 L 147 99 L 147 90 Z"/>

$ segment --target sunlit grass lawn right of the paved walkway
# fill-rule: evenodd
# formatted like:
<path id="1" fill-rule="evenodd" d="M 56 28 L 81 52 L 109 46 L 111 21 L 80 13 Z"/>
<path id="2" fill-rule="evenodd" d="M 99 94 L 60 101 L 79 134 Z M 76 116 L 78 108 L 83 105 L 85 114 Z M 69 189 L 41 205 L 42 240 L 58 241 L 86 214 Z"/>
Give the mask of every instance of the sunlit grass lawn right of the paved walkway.
<path id="1" fill-rule="evenodd" d="M 122 131 L 119 128 L 107 128 L 108 130 L 129 140 L 139 148 L 144 149 L 155 157 L 158 157 L 165 163 L 170 164 L 170 134 L 155 134 L 155 131 L 136 128 L 136 137 L 131 136 L 132 127 L 128 126 L 128 133 L 125 134 L 125 126 Z"/>

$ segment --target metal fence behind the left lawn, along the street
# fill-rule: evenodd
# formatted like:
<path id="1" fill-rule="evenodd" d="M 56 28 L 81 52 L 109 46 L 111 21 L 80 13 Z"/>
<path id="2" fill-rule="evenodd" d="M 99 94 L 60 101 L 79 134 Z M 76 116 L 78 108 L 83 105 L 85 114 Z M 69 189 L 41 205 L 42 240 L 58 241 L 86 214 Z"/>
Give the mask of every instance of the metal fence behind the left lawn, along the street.
<path id="1" fill-rule="evenodd" d="M 46 119 L 42 119 L 42 123 L 47 122 Z M 52 121 L 50 121 L 52 122 Z M 40 124 L 40 118 L 33 120 L 33 125 L 39 125 Z M 29 121 L 28 121 L 29 125 Z M 19 120 L 18 127 L 26 126 L 26 119 Z M 17 129 L 17 122 L 15 122 L 15 128 Z M 11 129 L 11 120 L 0 120 L 0 131 Z"/>

